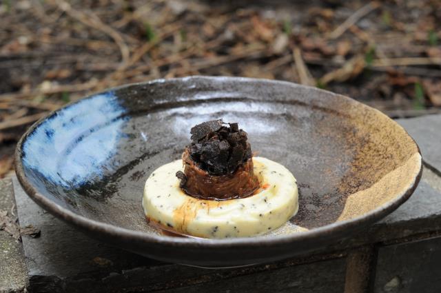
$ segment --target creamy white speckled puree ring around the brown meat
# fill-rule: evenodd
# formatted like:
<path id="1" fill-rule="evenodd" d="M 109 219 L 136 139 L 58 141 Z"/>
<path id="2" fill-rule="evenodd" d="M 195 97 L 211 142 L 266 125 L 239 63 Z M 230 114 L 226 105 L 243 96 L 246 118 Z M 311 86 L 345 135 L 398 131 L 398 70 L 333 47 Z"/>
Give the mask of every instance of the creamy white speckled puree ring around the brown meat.
<path id="1" fill-rule="evenodd" d="M 182 234 L 204 238 L 248 237 L 279 228 L 298 211 L 293 174 L 283 165 L 253 157 L 260 188 L 252 196 L 223 201 L 196 199 L 179 187 L 183 161 L 162 165 L 145 182 L 147 219 Z"/>

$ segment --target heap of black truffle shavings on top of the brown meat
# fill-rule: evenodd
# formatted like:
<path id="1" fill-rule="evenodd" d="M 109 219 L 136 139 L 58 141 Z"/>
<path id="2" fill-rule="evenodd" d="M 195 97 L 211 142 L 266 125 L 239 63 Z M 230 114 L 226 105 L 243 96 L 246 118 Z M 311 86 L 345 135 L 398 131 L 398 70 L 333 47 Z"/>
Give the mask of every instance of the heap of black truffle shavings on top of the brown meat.
<path id="1" fill-rule="evenodd" d="M 190 133 L 190 157 L 212 176 L 232 174 L 252 157 L 247 132 L 239 129 L 238 123 L 207 121 L 194 126 Z"/>

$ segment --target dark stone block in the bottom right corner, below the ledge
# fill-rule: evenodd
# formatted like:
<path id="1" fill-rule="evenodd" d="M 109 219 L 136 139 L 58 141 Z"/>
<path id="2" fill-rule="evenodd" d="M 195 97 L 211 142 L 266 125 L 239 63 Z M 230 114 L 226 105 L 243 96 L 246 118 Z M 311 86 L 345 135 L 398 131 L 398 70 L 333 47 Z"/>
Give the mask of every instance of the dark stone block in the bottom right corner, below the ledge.
<path id="1" fill-rule="evenodd" d="M 381 247 L 376 293 L 438 293 L 441 290 L 441 238 Z"/>

